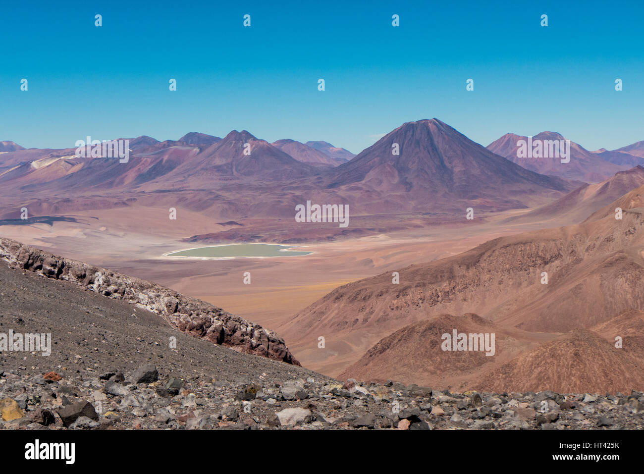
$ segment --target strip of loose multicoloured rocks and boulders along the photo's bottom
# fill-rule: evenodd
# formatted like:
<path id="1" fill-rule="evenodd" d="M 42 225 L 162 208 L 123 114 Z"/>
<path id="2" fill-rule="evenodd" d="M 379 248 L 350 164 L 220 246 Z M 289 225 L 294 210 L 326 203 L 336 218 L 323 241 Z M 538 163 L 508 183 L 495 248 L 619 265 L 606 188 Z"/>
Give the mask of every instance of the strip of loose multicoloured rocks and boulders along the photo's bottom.
<path id="1" fill-rule="evenodd" d="M 14 372 L 14 371 L 12 371 Z M 169 377 L 153 365 L 129 374 L 56 372 L 0 379 L 0 429 L 478 429 L 644 428 L 644 395 L 450 393 L 400 383 L 314 377 Z M 251 381 L 252 380 L 252 381 Z"/>

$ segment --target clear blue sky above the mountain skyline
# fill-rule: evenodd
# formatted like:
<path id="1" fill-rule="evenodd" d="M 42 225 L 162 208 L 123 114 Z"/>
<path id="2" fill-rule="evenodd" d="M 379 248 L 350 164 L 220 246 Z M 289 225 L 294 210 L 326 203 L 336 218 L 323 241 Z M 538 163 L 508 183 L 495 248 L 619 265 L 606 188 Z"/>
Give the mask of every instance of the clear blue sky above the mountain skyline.
<path id="1" fill-rule="evenodd" d="M 545 129 L 588 149 L 644 140 L 641 0 L 133 3 L 3 1 L 0 140 L 247 129 L 358 153 L 432 117 L 484 145 Z"/>

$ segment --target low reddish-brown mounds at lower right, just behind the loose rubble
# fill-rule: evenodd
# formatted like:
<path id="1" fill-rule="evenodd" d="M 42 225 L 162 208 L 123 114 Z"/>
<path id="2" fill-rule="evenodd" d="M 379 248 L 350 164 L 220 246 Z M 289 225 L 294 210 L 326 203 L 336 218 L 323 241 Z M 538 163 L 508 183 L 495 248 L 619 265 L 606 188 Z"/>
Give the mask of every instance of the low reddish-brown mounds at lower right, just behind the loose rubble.
<path id="1" fill-rule="evenodd" d="M 550 336 L 507 330 L 473 314 L 441 315 L 384 337 L 339 378 L 395 379 L 439 390 L 627 393 L 644 386 L 642 328 L 644 313 L 635 310 L 592 331 Z M 495 354 L 442 350 L 442 334 L 453 329 L 468 335 L 494 333 Z M 621 348 L 614 344 L 615 335 L 623 339 Z"/>

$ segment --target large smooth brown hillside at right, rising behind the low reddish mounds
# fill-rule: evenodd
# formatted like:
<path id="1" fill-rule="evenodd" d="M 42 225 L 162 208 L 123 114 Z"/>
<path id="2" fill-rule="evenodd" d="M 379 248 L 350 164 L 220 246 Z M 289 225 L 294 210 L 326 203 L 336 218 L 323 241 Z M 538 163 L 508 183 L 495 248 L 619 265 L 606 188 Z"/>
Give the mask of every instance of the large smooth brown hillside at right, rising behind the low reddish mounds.
<path id="1" fill-rule="evenodd" d="M 639 196 L 630 204 L 644 204 Z M 623 310 L 644 309 L 642 251 L 639 208 L 625 210 L 622 220 L 608 213 L 581 225 L 497 238 L 401 269 L 399 284 L 389 272 L 339 287 L 296 314 L 285 337 L 305 363 L 320 360 L 306 342 L 318 336 L 327 339 L 327 358 L 352 362 L 360 348 L 444 312 L 477 312 L 502 327 L 533 332 L 589 328 Z"/>

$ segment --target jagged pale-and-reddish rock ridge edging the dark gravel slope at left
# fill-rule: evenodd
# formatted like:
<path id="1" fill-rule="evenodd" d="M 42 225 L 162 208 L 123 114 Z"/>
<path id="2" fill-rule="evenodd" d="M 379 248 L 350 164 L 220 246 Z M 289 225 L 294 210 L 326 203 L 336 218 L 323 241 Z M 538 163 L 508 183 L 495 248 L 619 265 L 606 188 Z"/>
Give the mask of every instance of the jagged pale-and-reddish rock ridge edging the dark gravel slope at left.
<path id="1" fill-rule="evenodd" d="M 84 290 L 126 301 L 134 307 L 158 314 L 169 325 L 191 336 L 203 337 L 247 354 L 299 365 L 284 340 L 274 332 L 155 283 L 54 256 L 6 238 L 0 238 L 0 259 L 11 267 L 46 278 L 71 281 Z"/>

